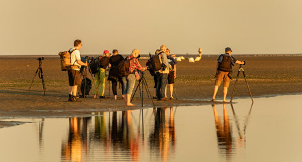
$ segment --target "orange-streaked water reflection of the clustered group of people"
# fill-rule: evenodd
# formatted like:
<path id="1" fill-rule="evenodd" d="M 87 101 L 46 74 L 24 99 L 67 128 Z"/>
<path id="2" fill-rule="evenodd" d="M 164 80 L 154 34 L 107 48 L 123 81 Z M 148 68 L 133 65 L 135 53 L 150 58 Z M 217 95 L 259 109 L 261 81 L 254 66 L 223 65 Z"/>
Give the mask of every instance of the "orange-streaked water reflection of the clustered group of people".
<path id="1" fill-rule="evenodd" d="M 105 159 L 119 157 L 121 160 L 138 161 L 143 157 L 140 152 L 150 150 L 151 155 L 148 156 L 153 159 L 169 160 L 176 150 L 173 109 L 153 108 L 152 113 L 146 114 L 143 114 L 143 109 L 139 114 L 131 110 L 95 112 L 100 116 L 70 118 L 68 140 L 63 139 L 61 144 L 61 159 L 83 161 L 83 157 L 97 151 L 98 155 L 105 154 Z M 148 117 L 148 125 L 153 121 L 147 129 L 144 129 L 144 116 Z"/>

